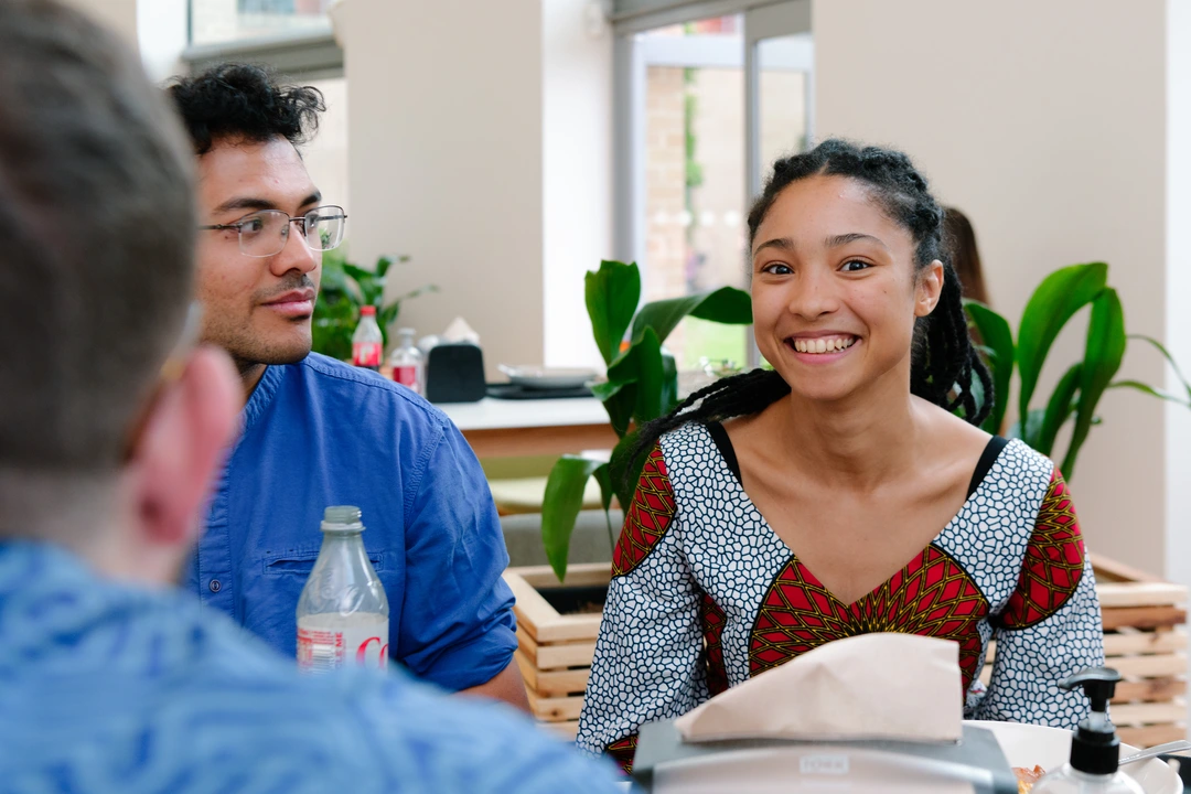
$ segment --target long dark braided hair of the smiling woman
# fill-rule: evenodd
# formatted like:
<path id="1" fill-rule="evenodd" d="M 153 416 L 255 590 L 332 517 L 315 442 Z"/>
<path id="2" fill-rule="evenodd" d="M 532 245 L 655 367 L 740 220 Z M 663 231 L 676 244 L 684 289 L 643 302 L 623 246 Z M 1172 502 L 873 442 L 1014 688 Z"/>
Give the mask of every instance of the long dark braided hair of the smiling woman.
<path id="1" fill-rule="evenodd" d="M 765 192 L 749 211 L 749 246 L 781 192 L 816 175 L 863 182 L 881 210 L 913 238 L 916 270 L 935 260 L 943 263 L 939 305 L 915 324 L 910 393 L 949 412 L 962 412 L 967 421 L 979 425 L 992 407 L 992 379 L 968 336 L 960 281 L 943 246 L 943 211 L 909 157 L 900 151 L 861 148 L 833 138 L 807 152 L 779 160 Z M 980 382 L 984 394 L 980 400 L 973 389 L 974 381 Z M 632 457 L 638 459 L 663 433 L 687 421 L 706 424 L 756 414 L 787 394 L 790 385 L 774 370 L 754 369 L 717 381 L 688 396 L 669 414 L 646 424 Z"/>

